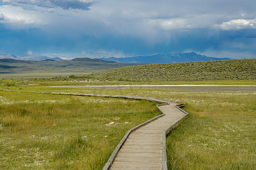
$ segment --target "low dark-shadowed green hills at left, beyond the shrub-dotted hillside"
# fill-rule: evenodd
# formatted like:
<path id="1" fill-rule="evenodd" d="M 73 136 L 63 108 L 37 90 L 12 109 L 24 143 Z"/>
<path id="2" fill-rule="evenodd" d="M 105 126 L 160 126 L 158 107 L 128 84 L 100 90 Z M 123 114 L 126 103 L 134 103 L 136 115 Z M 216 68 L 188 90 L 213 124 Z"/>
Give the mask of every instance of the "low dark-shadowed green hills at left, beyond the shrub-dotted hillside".
<path id="1" fill-rule="evenodd" d="M 140 65 L 137 63 L 118 63 L 101 59 L 75 58 L 58 61 L 22 61 L 18 59 L 0 59 L 0 78 L 52 77 L 84 75 L 100 70 L 123 66 Z"/>

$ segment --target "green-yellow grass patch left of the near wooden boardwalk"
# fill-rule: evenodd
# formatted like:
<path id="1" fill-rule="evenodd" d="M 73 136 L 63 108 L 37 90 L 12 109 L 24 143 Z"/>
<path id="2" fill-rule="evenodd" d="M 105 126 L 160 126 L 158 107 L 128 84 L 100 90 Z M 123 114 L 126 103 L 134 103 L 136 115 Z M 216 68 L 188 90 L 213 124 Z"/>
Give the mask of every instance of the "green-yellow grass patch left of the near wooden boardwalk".
<path id="1" fill-rule="evenodd" d="M 0 169 L 102 169 L 127 130 L 160 114 L 155 105 L 1 91 Z"/>

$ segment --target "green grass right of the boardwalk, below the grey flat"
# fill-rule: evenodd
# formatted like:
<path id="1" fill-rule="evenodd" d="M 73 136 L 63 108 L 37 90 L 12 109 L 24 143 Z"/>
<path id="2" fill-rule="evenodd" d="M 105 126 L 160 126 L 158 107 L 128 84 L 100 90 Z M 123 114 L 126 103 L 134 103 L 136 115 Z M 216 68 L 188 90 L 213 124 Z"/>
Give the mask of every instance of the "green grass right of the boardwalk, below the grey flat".
<path id="1" fill-rule="evenodd" d="M 168 169 L 255 169 L 256 97 L 245 92 L 180 93 L 189 114 L 166 139 Z"/>

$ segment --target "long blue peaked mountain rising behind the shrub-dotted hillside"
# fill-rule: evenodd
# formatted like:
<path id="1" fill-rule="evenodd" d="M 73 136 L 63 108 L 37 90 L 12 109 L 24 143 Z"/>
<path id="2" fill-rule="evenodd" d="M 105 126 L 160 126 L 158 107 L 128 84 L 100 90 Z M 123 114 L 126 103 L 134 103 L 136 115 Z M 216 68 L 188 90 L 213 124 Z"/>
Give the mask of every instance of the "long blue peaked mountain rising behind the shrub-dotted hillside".
<path id="1" fill-rule="evenodd" d="M 195 61 L 215 61 L 224 60 L 231 58 L 214 58 L 202 56 L 196 53 L 183 53 L 183 54 L 156 54 L 154 56 L 137 56 L 137 57 L 110 57 L 110 58 L 99 58 L 105 61 L 115 61 L 122 63 L 175 63 L 175 62 L 195 62 Z"/>

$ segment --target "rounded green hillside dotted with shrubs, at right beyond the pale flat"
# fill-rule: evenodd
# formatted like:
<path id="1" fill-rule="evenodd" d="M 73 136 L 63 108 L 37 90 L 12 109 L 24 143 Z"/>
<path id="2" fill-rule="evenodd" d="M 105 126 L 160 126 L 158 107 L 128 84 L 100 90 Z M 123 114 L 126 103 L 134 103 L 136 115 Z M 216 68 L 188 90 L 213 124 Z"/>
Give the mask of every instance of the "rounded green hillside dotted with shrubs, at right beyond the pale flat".
<path id="1" fill-rule="evenodd" d="M 256 80 L 256 58 L 120 67 L 89 74 L 101 80 Z"/>

